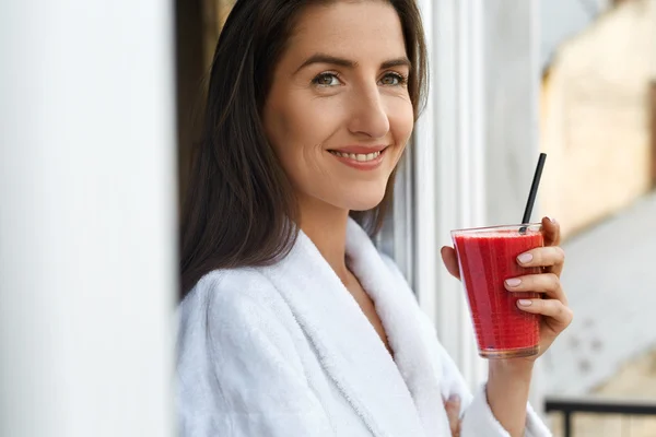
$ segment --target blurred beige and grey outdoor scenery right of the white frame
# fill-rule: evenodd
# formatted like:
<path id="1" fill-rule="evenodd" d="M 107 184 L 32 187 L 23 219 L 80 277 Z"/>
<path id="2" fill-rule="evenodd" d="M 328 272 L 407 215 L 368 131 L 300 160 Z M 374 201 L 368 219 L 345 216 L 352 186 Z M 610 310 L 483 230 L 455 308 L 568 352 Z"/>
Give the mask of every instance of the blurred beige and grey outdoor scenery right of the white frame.
<path id="1" fill-rule="evenodd" d="M 544 389 L 626 412 L 656 400 L 655 16 L 652 1 L 541 3 L 540 147 L 558 162 L 541 201 L 563 226 L 576 315 Z M 573 417 L 575 436 L 656 436 L 654 418 Z"/>

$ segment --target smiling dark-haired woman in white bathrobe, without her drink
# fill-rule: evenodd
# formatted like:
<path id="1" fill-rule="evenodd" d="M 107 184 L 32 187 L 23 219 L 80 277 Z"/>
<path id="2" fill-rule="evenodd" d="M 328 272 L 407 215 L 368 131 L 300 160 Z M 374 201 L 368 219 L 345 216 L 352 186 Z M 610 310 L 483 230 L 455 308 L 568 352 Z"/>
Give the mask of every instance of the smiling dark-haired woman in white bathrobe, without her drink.
<path id="1" fill-rule="evenodd" d="M 470 394 L 370 239 L 425 73 L 413 0 L 236 2 L 183 218 L 184 436 L 550 435 L 527 408 L 534 359 L 491 361 Z M 543 316 L 544 351 L 572 312 L 542 224 L 550 247 L 525 265 L 546 273 L 508 292 L 544 294 L 522 308 Z"/>

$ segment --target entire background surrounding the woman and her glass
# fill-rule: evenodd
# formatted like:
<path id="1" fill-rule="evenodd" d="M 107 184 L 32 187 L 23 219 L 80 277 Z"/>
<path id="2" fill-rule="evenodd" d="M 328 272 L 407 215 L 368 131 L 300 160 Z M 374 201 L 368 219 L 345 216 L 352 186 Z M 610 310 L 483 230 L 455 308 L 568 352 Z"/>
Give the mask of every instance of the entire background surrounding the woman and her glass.
<path id="1" fill-rule="evenodd" d="M 475 387 L 438 250 L 518 222 L 548 153 L 575 320 L 531 402 L 656 436 L 656 0 L 418 2 L 431 92 L 376 243 Z M 233 3 L 0 3 L 0 436 L 174 435 L 177 206 Z"/>

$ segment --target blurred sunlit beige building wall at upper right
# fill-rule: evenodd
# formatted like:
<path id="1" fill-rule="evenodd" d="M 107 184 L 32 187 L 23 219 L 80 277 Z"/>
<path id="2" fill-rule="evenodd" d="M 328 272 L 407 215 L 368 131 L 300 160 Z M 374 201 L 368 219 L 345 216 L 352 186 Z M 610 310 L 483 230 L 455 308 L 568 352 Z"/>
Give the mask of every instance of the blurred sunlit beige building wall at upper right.
<path id="1" fill-rule="evenodd" d="M 546 69 L 542 208 L 565 235 L 630 205 L 654 186 L 651 95 L 656 3 L 624 1 L 564 42 Z"/>

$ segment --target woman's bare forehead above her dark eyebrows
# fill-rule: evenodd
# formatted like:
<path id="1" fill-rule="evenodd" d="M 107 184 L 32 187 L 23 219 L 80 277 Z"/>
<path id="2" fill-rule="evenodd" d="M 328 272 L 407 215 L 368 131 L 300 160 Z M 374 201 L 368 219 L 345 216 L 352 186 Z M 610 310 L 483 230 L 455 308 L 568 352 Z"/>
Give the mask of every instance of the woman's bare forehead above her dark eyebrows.
<path id="1" fill-rule="evenodd" d="M 406 56 L 398 13 L 386 1 L 335 1 L 311 5 L 296 20 L 290 57 L 327 52 L 359 62 Z"/>

